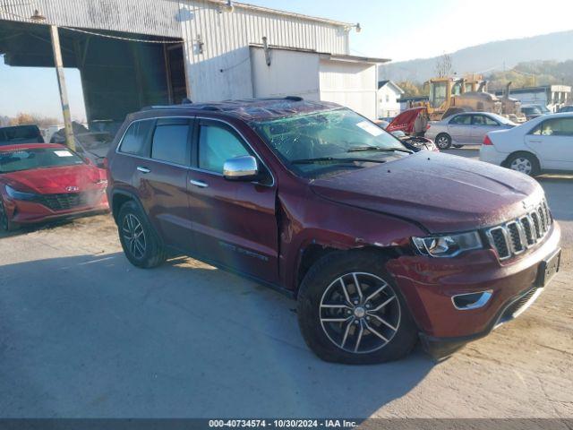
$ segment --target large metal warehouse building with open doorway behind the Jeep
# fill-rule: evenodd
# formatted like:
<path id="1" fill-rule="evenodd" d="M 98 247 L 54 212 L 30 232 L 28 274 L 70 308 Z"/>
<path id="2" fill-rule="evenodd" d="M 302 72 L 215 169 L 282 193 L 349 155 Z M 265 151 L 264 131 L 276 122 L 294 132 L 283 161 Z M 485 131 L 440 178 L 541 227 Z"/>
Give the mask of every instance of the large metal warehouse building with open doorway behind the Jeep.
<path id="1" fill-rule="evenodd" d="M 59 51 L 80 70 L 90 124 L 185 97 L 299 95 L 374 118 L 386 61 L 349 54 L 355 24 L 235 2 L 3 0 L 0 20 L 6 64 L 54 66 Z"/>

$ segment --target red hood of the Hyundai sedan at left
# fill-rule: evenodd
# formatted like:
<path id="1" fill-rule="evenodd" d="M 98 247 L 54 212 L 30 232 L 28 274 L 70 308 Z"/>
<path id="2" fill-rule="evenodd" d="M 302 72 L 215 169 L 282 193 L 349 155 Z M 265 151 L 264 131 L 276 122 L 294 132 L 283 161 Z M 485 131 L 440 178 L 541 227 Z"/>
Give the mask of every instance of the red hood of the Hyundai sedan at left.
<path id="1" fill-rule="evenodd" d="M 37 168 L 2 175 L 6 184 L 29 193 L 81 193 L 104 187 L 105 178 L 105 170 L 89 165 Z"/>

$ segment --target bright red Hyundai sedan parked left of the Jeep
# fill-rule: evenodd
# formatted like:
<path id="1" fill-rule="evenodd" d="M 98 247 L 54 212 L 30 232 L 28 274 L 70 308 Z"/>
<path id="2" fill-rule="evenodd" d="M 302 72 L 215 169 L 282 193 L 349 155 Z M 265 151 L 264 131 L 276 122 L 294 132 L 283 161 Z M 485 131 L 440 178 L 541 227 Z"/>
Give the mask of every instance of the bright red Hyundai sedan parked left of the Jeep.
<path id="1" fill-rule="evenodd" d="M 58 144 L 0 148 L 0 229 L 107 211 L 107 178 Z"/>

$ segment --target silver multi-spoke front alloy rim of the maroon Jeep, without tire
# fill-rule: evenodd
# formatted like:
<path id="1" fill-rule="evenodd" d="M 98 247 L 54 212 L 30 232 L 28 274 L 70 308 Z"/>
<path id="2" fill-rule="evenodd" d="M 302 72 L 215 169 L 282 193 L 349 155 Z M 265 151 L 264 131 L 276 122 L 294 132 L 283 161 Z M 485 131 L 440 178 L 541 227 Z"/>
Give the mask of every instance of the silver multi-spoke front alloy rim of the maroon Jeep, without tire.
<path id="1" fill-rule="evenodd" d="M 321 298 L 322 330 L 338 348 L 355 354 L 386 346 L 398 332 L 400 312 L 396 292 L 372 273 L 346 273 Z"/>

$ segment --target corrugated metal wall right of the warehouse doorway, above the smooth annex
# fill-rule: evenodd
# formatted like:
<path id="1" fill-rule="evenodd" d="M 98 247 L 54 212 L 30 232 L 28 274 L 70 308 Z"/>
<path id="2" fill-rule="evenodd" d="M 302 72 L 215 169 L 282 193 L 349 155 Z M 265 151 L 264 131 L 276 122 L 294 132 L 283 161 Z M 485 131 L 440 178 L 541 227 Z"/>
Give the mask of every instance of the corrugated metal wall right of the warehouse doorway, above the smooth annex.
<path id="1" fill-rule="evenodd" d="M 180 9 L 187 11 L 181 16 L 193 101 L 252 97 L 248 47 L 261 44 L 263 36 L 269 45 L 347 54 L 348 32 L 342 25 L 239 5 L 233 13 L 221 13 L 217 4 L 205 0 L 182 0 Z"/>

